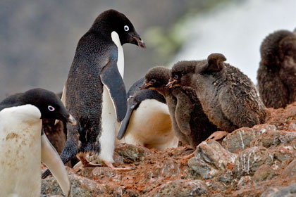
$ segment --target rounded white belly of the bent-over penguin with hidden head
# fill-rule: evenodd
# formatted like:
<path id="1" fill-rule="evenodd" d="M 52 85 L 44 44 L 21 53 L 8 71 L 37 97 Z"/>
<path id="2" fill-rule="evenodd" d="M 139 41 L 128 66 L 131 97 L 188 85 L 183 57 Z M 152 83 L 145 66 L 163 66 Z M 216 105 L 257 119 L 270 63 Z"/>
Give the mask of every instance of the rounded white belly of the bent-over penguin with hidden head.
<path id="1" fill-rule="evenodd" d="M 124 141 L 159 150 L 177 147 L 168 106 L 155 99 L 142 101 L 130 117 Z"/>

